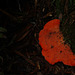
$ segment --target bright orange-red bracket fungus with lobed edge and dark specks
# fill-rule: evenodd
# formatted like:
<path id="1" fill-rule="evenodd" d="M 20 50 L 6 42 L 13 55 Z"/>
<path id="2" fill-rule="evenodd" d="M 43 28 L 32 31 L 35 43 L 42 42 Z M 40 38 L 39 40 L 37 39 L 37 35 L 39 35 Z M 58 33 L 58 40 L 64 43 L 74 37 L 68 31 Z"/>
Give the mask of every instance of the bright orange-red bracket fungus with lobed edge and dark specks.
<path id="1" fill-rule="evenodd" d="M 64 44 L 60 32 L 60 20 L 54 19 L 45 24 L 39 33 L 39 44 L 42 55 L 50 64 L 63 62 L 65 65 L 75 66 L 75 55 L 68 44 Z"/>

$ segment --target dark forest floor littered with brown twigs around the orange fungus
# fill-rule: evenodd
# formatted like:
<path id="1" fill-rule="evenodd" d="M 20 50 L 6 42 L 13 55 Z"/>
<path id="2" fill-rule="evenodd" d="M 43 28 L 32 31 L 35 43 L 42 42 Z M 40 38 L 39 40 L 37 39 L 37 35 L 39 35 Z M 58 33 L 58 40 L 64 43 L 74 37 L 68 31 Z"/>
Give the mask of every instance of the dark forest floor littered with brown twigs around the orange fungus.
<path id="1" fill-rule="evenodd" d="M 0 1 L 0 75 L 75 75 L 75 66 L 49 64 L 41 54 L 39 32 L 52 19 L 75 54 L 74 0 Z"/>

